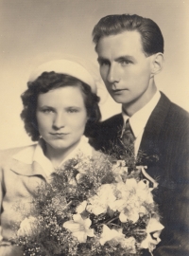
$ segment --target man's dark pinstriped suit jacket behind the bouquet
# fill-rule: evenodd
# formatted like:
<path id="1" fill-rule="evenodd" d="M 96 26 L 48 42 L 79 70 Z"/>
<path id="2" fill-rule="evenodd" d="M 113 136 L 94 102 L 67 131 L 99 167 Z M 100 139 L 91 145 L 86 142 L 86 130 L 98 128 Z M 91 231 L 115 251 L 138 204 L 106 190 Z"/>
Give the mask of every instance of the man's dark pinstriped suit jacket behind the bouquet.
<path id="1" fill-rule="evenodd" d="M 117 134 L 122 126 L 121 114 L 99 123 L 92 140 L 94 148 L 106 152 L 112 147 L 110 141 L 119 144 Z M 158 161 L 143 159 L 146 172 L 159 183 L 154 199 L 163 217 L 162 242 L 154 256 L 188 256 L 189 114 L 163 93 L 146 123 L 140 150 L 159 156 Z"/>

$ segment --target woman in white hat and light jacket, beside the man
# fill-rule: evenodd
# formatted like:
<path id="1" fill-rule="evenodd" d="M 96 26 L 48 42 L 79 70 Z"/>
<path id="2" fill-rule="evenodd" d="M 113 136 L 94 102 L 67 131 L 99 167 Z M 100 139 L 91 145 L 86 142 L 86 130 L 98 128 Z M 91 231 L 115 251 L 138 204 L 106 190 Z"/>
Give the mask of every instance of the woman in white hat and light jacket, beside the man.
<path id="1" fill-rule="evenodd" d="M 0 162 L 0 255 L 23 255 L 11 243 L 13 224 L 23 219 L 16 204 L 30 206 L 33 192 L 56 168 L 77 155 L 93 155 L 90 131 L 100 119 L 92 75 L 80 64 L 58 60 L 41 65 L 22 95 L 21 118 L 36 144 L 2 152 Z M 87 137 L 85 137 L 87 136 Z"/>

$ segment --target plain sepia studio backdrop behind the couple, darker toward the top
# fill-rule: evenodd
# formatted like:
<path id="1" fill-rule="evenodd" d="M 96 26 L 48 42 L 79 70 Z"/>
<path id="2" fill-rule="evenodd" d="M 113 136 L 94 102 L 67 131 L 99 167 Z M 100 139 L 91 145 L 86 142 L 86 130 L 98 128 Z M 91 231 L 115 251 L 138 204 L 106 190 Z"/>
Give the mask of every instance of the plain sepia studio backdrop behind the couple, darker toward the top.
<path id="1" fill-rule="evenodd" d="M 121 13 L 151 18 L 161 27 L 165 61 L 156 84 L 189 110 L 189 0 L 0 0 L 0 149 L 31 143 L 20 119 L 20 95 L 31 70 L 64 54 L 96 64 L 94 25 Z M 102 119 L 120 112 L 105 90 L 103 97 Z"/>

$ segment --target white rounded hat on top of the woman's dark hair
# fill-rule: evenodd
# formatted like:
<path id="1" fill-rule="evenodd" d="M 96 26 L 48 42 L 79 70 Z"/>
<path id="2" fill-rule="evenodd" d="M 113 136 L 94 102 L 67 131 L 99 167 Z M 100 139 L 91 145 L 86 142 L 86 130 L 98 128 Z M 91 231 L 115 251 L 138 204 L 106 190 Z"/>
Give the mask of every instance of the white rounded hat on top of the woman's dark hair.
<path id="1" fill-rule="evenodd" d="M 78 80 L 89 84 L 92 88 L 93 93 L 96 93 L 96 82 L 92 74 L 81 64 L 70 60 L 54 60 L 44 64 L 41 64 L 37 69 L 35 69 L 30 77 L 29 82 L 35 81 L 43 72 L 54 71 L 60 74 L 66 74 L 77 78 Z"/>

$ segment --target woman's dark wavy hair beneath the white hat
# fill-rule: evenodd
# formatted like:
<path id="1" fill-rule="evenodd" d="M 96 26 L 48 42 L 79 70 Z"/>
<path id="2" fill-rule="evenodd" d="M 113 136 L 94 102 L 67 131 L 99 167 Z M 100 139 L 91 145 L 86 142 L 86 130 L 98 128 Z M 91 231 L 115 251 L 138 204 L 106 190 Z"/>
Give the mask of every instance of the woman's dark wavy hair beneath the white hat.
<path id="1" fill-rule="evenodd" d="M 33 141 L 39 140 L 38 123 L 36 119 L 36 110 L 39 94 L 46 93 L 60 87 L 77 86 L 80 88 L 85 107 L 87 110 L 88 121 L 85 126 L 84 135 L 91 137 L 95 124 L 101 119 L 98 106 L 99 97 L 91 90 L 90 85 L 81 82 L 70 75 L 52 72 L 43 72 L 34 82 L 27 82 L 27 90 L 21 95 L 24 109 L 21 113 L 21 119 L 25 122 L 25 129 L 28 136 Z"/>

